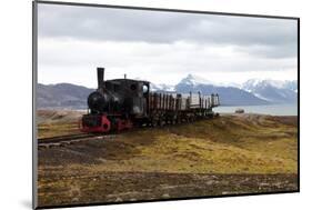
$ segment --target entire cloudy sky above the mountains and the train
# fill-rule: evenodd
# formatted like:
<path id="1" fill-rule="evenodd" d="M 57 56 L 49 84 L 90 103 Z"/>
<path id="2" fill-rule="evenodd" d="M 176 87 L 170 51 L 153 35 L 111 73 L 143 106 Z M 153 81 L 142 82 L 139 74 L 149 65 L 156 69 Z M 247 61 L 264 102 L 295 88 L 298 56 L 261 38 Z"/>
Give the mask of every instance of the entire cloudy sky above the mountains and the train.
<path id="1" fill-rule="evenodd" d="M 39 3 L 38 82 L 296 80 L 295 20 Z"/>

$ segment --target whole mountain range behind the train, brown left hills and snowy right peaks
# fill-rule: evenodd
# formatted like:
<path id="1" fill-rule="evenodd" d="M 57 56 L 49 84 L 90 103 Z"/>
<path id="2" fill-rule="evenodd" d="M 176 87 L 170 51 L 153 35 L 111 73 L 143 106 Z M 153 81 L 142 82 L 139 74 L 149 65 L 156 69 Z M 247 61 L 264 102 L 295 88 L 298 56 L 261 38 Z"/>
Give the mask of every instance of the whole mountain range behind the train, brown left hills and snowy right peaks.
<path id="1" fill-rule="evenodd" d="M 204 78 L 188 74 L 175 86 L 151 83 L 157 92 L 189 93 L 200 91 L 203 94 L 218 93 L 222 106 L 260 106 L 296 103 L 298 82 L 280 80 L 250 79 L 241 84 L 217 83 Z M 94 89 L 71 83 L 37 86 L 37 107 L 85 109 L 87 98 Z"/>

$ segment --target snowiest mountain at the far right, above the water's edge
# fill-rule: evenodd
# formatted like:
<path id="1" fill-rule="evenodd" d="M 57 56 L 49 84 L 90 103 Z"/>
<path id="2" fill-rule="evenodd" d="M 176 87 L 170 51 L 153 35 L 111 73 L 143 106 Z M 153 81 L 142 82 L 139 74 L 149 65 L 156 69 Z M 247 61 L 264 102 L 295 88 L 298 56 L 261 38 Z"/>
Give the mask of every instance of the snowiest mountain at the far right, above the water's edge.
<path id="1" fill-rule="evenodd" d="M 296 81 L 251 79 L 242 89 L 271 103 L 295 103 L 298 97 Z"/>

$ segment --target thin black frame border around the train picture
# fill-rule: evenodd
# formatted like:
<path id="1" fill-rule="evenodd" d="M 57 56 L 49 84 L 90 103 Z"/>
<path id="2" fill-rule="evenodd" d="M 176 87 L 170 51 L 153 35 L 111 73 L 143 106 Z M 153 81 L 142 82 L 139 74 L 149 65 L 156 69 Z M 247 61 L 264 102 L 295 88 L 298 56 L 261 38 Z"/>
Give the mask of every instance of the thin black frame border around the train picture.
<path id="1" fill-rule="evenodd" d="M 73 6 L 73 7 L 97 7 L 97 8 L 113 8 L 125 10 L 145 10 L 145 11 L 162 11 L 162 12 L 181 12 L 181 13 L 201 13 L 214 16 L 232 16 L 232 17 L 249 17 L 249 18 L 265 18 L 265 19 L 288 19 L 295 20 L 298 23 L 298 190 L 294 191 L 279 191 L 279 192 L 259 192 L 259 193 L 240 193 L 240 194 L 220 194 L 205 196 L 192 198 L 173 198 L 173 199 L 158 199 L 158 200 L 135 200 L 123 202 L 97 202 L 82 204 L 64 204 L 64 206 L 37 206 L 37 164 L 38 164 L 38 139 L 37 139 L 37 73 L 38 73 L 38 4 L 58 4 L 58 6 Z M 68 208 L 68 207 L 89 207 L 89 206 L 107 206 L 107 204 L 124 204 L 124 203 L 143 203 L 143 202 L 159 202 L 159 201 L 178 201 L 178 200 L 193 200 L 208 198 L 227 198 L 227 197 L 245 197 L 245 196 L 262 196 L 262 194 L 280 194 L 280 193 L 296 193 L 300 192 L 300 18 L 288 16 L 268 16 L 268 14 L 252 14 L 252 13 L 230 13 L 215 11 L 199 11 L 199 10 L 182 10 L 182 9 L 164 9 L 164 8 L 148 8 L 148 7 L 130 7 L 115 4 L 97 4 L 97 3 L 78 3 L 78 2 L 62 2 L 62 1 L 32 1 L 32 208 L 33 209 L 50 209 L 50 208 Z"/>

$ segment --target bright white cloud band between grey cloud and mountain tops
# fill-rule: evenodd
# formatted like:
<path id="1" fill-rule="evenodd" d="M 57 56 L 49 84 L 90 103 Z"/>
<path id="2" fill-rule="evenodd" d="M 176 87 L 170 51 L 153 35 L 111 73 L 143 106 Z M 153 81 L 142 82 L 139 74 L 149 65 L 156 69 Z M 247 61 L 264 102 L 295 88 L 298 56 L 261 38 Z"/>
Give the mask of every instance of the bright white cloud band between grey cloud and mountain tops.
<path id="1" fill-rule="evenodd" d="M 83 41 L 40 39 L 39 82 L 71 82 L 94 87 L 95 68 L 107 68 L 107 79 L 142 78 L 174 84 L 188 73 L 221 82 L 262 76 L 295 79 L 296 59 L 265 59 L 235 46 Z M 231 77 L 229 77 L 231 76 Z M 211 80 L 211 79 L 210 79 Z"/>

